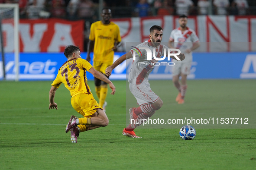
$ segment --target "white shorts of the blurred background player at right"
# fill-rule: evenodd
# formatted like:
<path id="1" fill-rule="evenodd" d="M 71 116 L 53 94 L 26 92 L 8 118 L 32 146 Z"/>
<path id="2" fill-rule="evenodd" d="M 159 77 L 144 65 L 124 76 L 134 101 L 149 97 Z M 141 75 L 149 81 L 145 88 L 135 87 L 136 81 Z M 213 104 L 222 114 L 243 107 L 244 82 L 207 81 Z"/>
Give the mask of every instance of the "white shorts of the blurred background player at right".
<path id="1" fill-rule="evenodd" d="M 172 76 L 179 75 L 180 73 L 189 75 L 192 61 L 181 62 L 173 61 L 175 64 L 172 66 Z"/>

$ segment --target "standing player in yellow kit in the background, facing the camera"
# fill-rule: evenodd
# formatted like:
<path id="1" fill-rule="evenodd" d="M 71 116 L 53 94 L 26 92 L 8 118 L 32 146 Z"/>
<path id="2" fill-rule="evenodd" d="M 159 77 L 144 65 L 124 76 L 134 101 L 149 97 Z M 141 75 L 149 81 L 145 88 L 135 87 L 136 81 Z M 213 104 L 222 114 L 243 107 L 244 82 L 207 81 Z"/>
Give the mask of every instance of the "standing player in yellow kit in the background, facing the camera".
<path id="1" fill-rule="evenodd" d="M 94 68 L 106 76 L 105 69 L 113 64 L 114 51 L 117 51 L 121 37 L 118 25 L 110 22 L 111 10 L 108 8 L 102 9 L 101 17 L 101 21 L 94 22 L 91 25 L 86 60 L 91 61 L 90 53 L 93 51 Z M 109 76 L 106 77 L 109 78 Z M 94 77 L 94 84 L 100 106 L 105 110 L 107 105 L 105 101 L 107 83 Z"/>

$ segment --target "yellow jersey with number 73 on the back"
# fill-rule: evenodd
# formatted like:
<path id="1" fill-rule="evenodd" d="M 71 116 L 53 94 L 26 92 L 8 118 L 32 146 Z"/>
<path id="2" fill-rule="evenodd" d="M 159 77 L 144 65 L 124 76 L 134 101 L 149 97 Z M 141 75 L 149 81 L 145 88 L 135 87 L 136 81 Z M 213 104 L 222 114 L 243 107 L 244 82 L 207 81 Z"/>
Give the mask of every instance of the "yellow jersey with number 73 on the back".
<path id="1" fill-rule="evenodd" d="M 80 93 L 91 94 L 87 84 L 86 71 L 91 69 L 91 64 L 81 58 L 74 58 L 66 61 L 60 69 L 52 86 L 59 88 L 63 83 L 70 91 L 72 97 Z"/>

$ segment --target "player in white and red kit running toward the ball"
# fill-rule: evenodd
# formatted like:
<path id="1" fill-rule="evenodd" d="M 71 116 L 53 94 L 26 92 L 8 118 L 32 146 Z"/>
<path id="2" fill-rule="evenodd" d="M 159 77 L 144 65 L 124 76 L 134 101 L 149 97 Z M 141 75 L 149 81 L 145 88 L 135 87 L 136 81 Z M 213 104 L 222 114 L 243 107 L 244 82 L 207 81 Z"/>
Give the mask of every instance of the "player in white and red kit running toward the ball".
<path id="1" fill-rule="evenodd" d="M 156 58 L 161 58 L 164 54 L 167 54 L 168 47 L 161 44 L 163 30 L 160 26 L 154 25 L 149 29 L 150 35 L 149 40 L 145 41 L 136 47 L 133 47 L 128 53 L 121 56 L 118 60 L 115 61 L 111 66 L 107 67 L 106 75 L 110 76 L 112 70 L 123 63 L 124 60 L 130 59 L 134 57 L 132 68 L 129 73 L 129 88 L 132 92 L 133 96 L 137 100 L 137 104 L 139 107 L 130 108 L 130 125 L 123 129 L 123 135 L 131 138 L 140 138 L 135 135 L 133 131 L 136 127 L 138 127 L 141 122 L 151 117 L 156 110 L 159 110 L 162 107 L 162 100 L 156 95 L 150 88 L 149 85 L 149 74 L 154 69 L 154 64 L 158 62 L 158 60 L 154 59 L 153 51 L 155 51 Z M 146 47 L 151 50 L 152 56 L 150 60 L 147 60 L 147 51 L 146 49 L 141 49 L 141 47 Z M 175 60 L 184 60 L 185 56 L 183 54 L 170 56 Z M 136 120 L 136 121 L 131 121 Z"/>

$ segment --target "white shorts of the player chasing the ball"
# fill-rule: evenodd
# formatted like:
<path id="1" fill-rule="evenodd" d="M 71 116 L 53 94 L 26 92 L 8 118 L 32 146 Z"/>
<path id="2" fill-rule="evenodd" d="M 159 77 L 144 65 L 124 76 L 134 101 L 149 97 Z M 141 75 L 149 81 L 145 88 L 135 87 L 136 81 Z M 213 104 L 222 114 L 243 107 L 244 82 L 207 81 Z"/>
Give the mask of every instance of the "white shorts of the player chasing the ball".
<path id="1" fill-rule="evenodd" d="M 130 83 L 129 88 L 133 96 L 136 98 L 139 106 L 154 103 L 159 99 L 159 96 L 156 95 L 149 86 L 143 84 L 135 85 Z"/>

